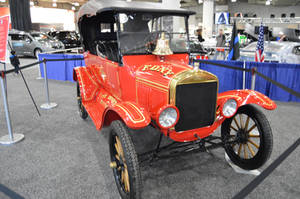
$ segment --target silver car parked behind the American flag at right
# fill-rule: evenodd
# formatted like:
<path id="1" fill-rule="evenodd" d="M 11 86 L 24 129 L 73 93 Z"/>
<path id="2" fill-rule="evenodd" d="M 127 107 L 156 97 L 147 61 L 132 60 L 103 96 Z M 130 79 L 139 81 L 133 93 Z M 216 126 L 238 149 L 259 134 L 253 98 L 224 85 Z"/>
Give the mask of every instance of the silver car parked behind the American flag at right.
<path id="1" fill-rule="evenodd" d="M 257 42 L 240 49 L 241 61 L 255 61 Z M 264 43 L 265 62 L 300 64 L 300 43 L 266 41 Z"/>

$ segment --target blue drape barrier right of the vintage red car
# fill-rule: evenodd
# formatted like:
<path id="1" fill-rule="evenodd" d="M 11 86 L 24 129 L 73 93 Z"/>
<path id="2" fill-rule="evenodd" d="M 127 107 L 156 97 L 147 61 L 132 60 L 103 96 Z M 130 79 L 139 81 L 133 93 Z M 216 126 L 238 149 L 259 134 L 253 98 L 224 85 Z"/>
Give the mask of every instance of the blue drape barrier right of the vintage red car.
<path id="1" fill-rule="evenodd" d="M 243 68 L 241 61 L 217 61 L 230 66 Z M 258 63 L 246 62 L 246 68 L 251 69 L 256 67 L 258 72 L 267 77 L 300 92 L 300 64 L 280 64 L 280 63 Z M 243 72 L 228 68 L 222 68 L 211 64 L 200 64 L 200 68 L 215 74 L 219 78 L 219 92 L 228 90 L 242 89 L 243 87 Z M 251 73 L 246 72 L 246 88 L 251 88 Z M 255 90 L 263 93 L 273 100 L 283 102 L 300 102 L 300 99 L 283 89 L 273 85 L 265 79 L 256 76 Z"/>

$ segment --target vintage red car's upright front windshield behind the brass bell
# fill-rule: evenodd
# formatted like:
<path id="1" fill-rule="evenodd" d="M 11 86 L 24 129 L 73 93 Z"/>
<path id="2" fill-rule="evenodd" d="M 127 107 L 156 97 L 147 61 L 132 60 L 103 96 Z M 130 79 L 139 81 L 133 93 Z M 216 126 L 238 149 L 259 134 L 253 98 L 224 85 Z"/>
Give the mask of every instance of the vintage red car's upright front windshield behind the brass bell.
<path id="1" fill-rule="evenodd" d="M 187 53 L 187 31 L 184 16 L 134 13 L 119 14 L 120 46 L 125 54 L 151 54 L 157 39 L 164 33 L 173 53 Z"/>

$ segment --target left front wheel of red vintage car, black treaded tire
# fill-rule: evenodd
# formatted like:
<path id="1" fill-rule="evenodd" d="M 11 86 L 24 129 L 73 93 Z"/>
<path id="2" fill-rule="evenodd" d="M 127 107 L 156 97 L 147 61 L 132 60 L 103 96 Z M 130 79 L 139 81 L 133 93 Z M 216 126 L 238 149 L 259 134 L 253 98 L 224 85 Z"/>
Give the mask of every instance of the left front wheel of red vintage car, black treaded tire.
<path id="1" fill-rule="evenodd" d="M 129 129 L 119 120 L 111 123 L 109 149 L 111 168 L 122 199 L 139 199 L 141 195 L 141 174 L 137 153 Z M 118 146 L 122 149 L 118 152 Z M 122 175 L 124 174 L 124 181 Z M 126 177 L 127 176 L 127 177 Z M 127 179 L 127 181 L 126 181 Z"/>

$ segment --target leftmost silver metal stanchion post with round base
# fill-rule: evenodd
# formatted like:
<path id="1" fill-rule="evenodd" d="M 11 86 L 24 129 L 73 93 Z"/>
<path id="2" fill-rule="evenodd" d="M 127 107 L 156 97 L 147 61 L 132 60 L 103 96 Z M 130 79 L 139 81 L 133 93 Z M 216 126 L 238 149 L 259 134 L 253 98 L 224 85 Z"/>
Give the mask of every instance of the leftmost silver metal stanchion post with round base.
<path id="1" fill-rule="evenodd" d="M 14 134 L 12 132 L 11 128 L 11 122 L 10 122 L 10 114 L 9 114 L 9 109 L 8 109 L 8 103 L 7 103 L 7 95 L 5 91 L 5 81 L 4 81 L 4 76 L 0 77 L 0 82 L 1 82 L 1 90 L 2 90 L 2 95 L 3 95 L 3 104 L 4 104 L 4 109 L 5 109 L 5 116 L 6 116 L 6 123 L 7 123 L 7 129 L 8 129 L 8 135 L 5 135 L 0 138 L 0 144 L 14 144 L 17 142 L 20 142 L 21 140 L 24 139 L 23 134 Z"/>

